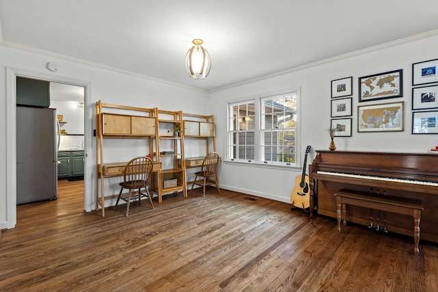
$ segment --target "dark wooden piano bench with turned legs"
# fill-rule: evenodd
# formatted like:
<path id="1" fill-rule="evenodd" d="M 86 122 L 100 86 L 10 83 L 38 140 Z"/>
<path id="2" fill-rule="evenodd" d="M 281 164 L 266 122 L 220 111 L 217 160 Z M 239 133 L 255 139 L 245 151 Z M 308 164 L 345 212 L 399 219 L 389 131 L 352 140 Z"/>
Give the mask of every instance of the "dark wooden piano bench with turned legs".
<path id="1" fill-rule="evenodd" d="M 343 220 L 343 224 L 346 226 L 345 217 L 347 204 L 404 215 L 412 215 L 414 225 L 413 253 L 415 255 L 420 253 L 418 242 L 420 241 L 420 219 L 422 217 L 423 210 L 422 201 L 391 196 L 378 196 L 376 194 L 366 193 L 363 191 L 351 191 L 348 189 L 337 191 L 334 195 L 336 196 L 337 230 L 339 233 L 341 233 L 341 220 Z"/>

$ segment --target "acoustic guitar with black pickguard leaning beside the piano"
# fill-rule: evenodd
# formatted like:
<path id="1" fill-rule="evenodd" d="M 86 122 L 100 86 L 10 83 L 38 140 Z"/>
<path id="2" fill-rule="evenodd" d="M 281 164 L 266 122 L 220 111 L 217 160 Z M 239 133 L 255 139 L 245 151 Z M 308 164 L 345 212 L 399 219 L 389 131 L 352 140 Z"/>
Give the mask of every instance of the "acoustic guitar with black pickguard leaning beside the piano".
<path id="1" fill-rule="evenodd" d="M 307 146 L 304 157 L 304 165 L 302 165 L 302 174 L 296 176 L 295 187 L 290 194 L 290 201 L 292 205 L 297 208 L 307 209 L 310 207 L 310 189 L 309 176 L 306 174 L 307 155 L 309 154 L 311 146 Z"/>

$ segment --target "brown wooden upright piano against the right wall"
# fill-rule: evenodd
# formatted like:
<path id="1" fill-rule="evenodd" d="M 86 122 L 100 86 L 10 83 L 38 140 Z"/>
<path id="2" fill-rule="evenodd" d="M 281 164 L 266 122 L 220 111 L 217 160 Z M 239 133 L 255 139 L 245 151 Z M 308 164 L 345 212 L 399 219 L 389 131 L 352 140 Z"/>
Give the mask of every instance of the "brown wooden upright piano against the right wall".
<path id="1" fill-rule="evenodd" d="M 310 217 L 313 211 L 336 218 L 335 192 L 365 191 L 421 200 L 421 238 L 438 243 L 438 155 L 433 153 L 317 150 L 309 165 Z M 412 217 L 348 206 L 346 220 L 412 236 Z"/>

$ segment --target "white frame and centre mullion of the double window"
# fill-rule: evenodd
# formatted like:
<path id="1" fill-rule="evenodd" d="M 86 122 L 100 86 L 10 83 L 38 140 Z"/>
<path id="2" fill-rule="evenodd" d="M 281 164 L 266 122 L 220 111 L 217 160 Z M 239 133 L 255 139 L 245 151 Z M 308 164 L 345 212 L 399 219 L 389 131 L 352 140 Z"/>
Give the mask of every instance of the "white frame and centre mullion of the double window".
<path id="1" fill-rule="evenodd" d="M 261 133 L 262 133 L 262 124 L 261 124 L 261 101 L 263 98 L 269 98 L 272 96 L 279 96 L 290 94 L 294 92 L 296 94 L 296 127 L 295 127 L 295 162 L 278 162 L 278 161 L 265 161 L 264 157 L 261 159 Z M 287 90 L 281 90 L 278 92 L 269 92 L 266 94 L 259 94 L 257 96 L 247 96 L 246 98 L 237 98 L 227 102 L 227 159 L 224 159 L 224 162 L 229 163 L 243 163 L 246 165 L 259 165 L 273 168 L 300 168 L 300 148 L 302 146 L 301 135 L 300 135 L 300 99 L 301 92 L 300 87 L 290 88 Z M 254 114 L 254 159 L 239 159 L 238 157 L 233 157 L 233 135 L 235 135 L 236 131 L 233 129 L 233 106 L 239 105 L 243 103 L 254 103 L 255 114 Z"/>

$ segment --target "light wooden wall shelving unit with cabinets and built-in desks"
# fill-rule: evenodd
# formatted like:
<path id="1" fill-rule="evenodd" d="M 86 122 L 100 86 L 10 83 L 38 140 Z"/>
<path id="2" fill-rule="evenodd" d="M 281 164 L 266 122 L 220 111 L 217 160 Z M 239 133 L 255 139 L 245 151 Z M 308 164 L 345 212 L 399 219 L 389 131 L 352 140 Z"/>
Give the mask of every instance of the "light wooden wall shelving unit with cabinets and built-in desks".
<path id="1" fill-rule="evenodd" d="M 179 135 L 175 134 L 175 129 L 180 130 L 177 133 Z M 185 158 L 185 137 L 205 142 L 205 153 L 199 153 L 203 156 L 196 157 L 197 160 L 195 157 Z M 96 210 L 101 208 L 102 216 L 105 216 L 105 200 L 118 196 L 105 196 L 104 180 L 123 176 L 127 163 L 104 161 L 106 139 L 149 140 L 147 152 L 151 153 L 154 161 L 151 191 L 157 195 L 158 202 L 162 202 L 164 195 L 179 191 L 186 197 L 185 168 L 201 166 L 207 153 L 216 152 L 214 116 L 183 114 L 182 111 L 166 111 L 157 107 L 146 109 L 96 102 Z M 186 161 L 189 161 L 188 166 Z"/>

